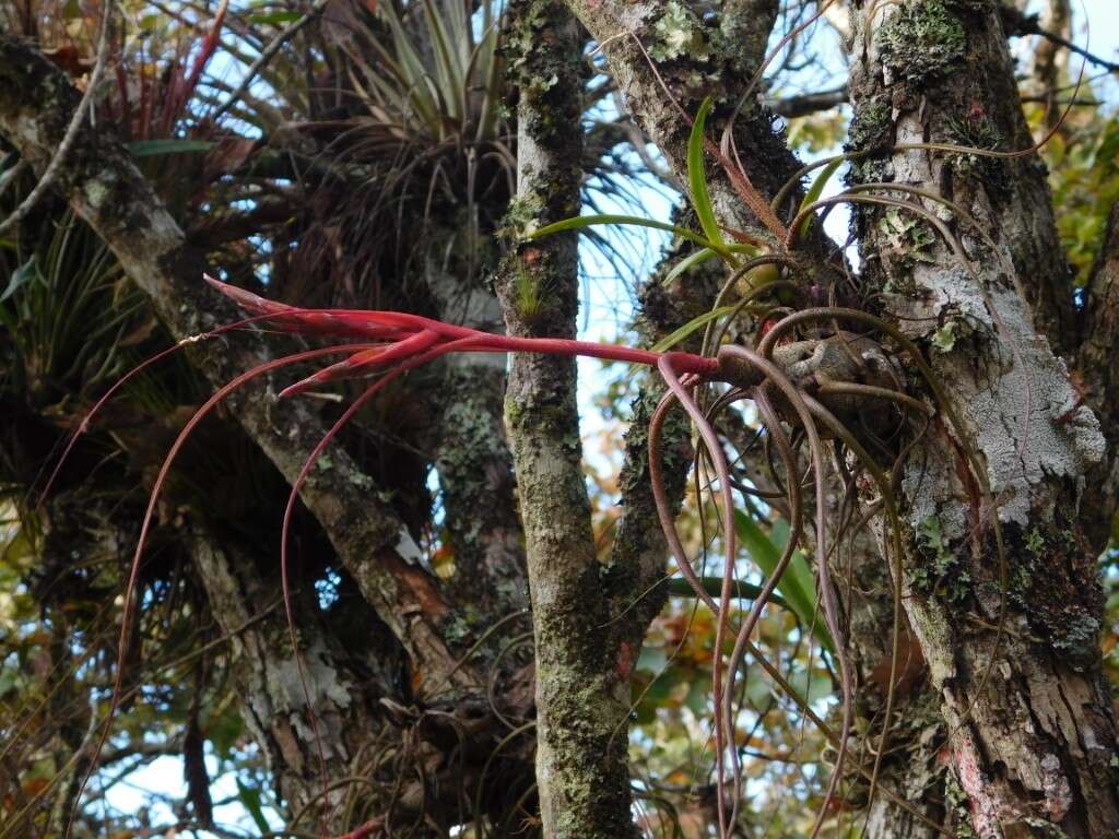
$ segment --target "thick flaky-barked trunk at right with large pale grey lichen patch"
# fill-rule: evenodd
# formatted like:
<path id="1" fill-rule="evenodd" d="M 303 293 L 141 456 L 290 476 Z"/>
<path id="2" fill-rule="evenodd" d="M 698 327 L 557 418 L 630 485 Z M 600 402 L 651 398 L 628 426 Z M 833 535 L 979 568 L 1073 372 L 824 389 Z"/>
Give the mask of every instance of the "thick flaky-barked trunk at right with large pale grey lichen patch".
<path id="1" fill-rule="evenodd" d="M 946 809 L 966 808 L 982 839 L 1113 836 L 1116 726 L 1100 673 L 1094 554 L 1078 508 L 1104 441 L 1051 349 L 1069 347 L 1075 330 L 1044 170 L 1033 157 L 892 150 L 1029 145 L 997 8 L 867 2 L 856 18 L 852 139 L 882 151 L 856 177 L 938 191 L 994 239 L 988 246 L 953 219 L 971 255 L 962 265 L 941 244 L 906 238 L 912 219 L 858 214 L 864 282 L 883 293 L 887 317 L 928 342 L 966 426 L 965 439 L 934 426 L 904 481 L 905 609 L 950 732 L 950 781 L 962 793 Z M 969 446 L 993 499 L 969 475 Z"/>

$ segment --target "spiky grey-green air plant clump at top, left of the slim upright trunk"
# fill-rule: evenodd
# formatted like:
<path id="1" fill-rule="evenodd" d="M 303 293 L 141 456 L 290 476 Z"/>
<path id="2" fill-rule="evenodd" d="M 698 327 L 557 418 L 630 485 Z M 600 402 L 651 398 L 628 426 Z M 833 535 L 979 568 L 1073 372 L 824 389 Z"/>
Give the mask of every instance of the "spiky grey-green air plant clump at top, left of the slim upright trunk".
<path id="1" fill-rule="evenodd" d="M 516 157 L 500 106 L 501 4 L 423 0 L 355 13 L 359 26 L 326 30 L 340 53 L 339 106 L 329 119 L 285 126 L 319 148 L 317 171 L 307 172 L 318 181 L 310 235 L 295 260 L 319 270 L 321 255 L 338 261 L 349 299 L 369 299 L 383 291 L 377 277 L 386 261 L 410 267 L 416 258 L 402 245 L 414 237 L 394 232 L 422 218 L 453 232 L 458 253 L 469 255 L 468 276 L 460 277 L 468 283 L 515 190 Z M 314 217 L 319 202 L 329 224 Z"/>

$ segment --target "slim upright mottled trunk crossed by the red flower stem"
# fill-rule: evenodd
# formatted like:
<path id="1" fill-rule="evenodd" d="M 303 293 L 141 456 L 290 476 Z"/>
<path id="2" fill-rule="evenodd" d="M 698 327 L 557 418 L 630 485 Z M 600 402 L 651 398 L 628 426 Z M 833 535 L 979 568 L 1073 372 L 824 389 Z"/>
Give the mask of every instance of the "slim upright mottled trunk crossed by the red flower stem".
<path id="1" fill-rule="evenodd" d="M 555 0 L 514 9 L 509 36 L 518 67 L 515 234 L 579 214 L 582 39 Z M 521 246 L 497 280 L 515 336 L 574 337 L 579 307 L 573 234 Z M 539 294 L 526 305 L 525 289 Z M 506 422 L 517 470 L 536 643 L 536 779 L 544 835 L 556 839 L 632 836 L 626 724 L 628 649 L 609 624 L 582 468 L 575 365 L 516 356 Z"/>

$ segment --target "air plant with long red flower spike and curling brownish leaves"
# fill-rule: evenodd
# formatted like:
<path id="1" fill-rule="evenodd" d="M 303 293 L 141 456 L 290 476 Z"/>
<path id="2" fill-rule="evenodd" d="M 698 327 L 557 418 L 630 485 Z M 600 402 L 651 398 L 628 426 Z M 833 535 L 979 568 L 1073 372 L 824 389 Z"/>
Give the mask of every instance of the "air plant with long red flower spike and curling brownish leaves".
<path id="1" fill-rule="evenodd" d="M 845 722 L 837 742 L 840 751 L 840 765 L 843 760 L 844 744 L 850 728 L 849 723 L 849 696 L 852 692 L 849 667 L 843 650 L 843 630 L 838 619 L 838 607 L 835 602 L 835 594 L 827 575 L 828 560 L 828 535 L 825 527 L 826 512 L 822 508 L 825 492 L 824 481 L 826 468 L 824 461 L 822 435 L 818 431 L 818 423 L 824 423 L 828 432 L 835 436 L 849 437 L 845 432 L 843 422 L 836 415 L 849 417 L 849 402 L 853 397 L 866 397 L 874 399 L 885 399 L 911 411 L 914 405 L 924 409 L 921 403 L 905 396 L 901 390 L 891 387 L 892 377 L 881 375 L 882 370 L 867 373 L 867 365 L 872 359 L 880 358 L 881 349 L 878 345 L 868 338 L 855 336 L 848 332 L 837 332 L 827 338 L 798 341 L 784 346 L 777 346 L 775 338 L 764 341 L 756 349 L 750 349 L 737 345 L 725 345 L 716 357 L 707 357 L 674 350 L 642 350 L 628 347 L 610 345 L 598 345 L 586 341 L 551 338 L 514 338 L 508 336 L 489 334 L 479 330 L 457 327 L 440 321 L 422 318 L 414 314 L 401 312 L 379 312 L 360 310 L 310 310 L 297 307 L 289 307 L 281 303 L 267 301 L 250 292 L 235 289 L 222 283 L 213 277 L 207 281 L 223 294 L 232 298 L 238 305 L 245 309 L 252 318 L 251 321 L 262 321 L 269 323 L 273 329 L 308 337 L 341 338 L 352 343 L 331 345 L 328 347 L 305 350 L 286 356 L 272 361 L 267 361 L 245 374 L 238 376 L 225 387 L 220 388 L 209 400 L 207 400 L 190 418 L 180 432 L 175 444 L 160 470 L 159 477 L 152 489 L 149 500 L 148 511 L 141 528 L 140 543 L 133 559 L 132 572 L 129 578 L 128 593 L 125 596 L 125 620 L 122 624 L 122 641 L 119 650 L 116 680 L 120 691 L 121 673 L 124 664 L 124 642 L 128 638 L 130 615 L 134 610 L 134 588 L 138 579 L 138 568 L 140 556 L 143 549 L 144 539 L 150 528 L 152 516 L 156 509 L 160 489 L 167 479 L 171 462 L 178 451 L 182 447 L 187 437 L 223 398 L 242 387 L 250 380 L 265 375 L 272 370 L 289 366 L 299 361 L 328 358 L 331 356 L 342 356 L 341 360 L 335 361 L 323 367 L 318 373 L 290 385 L 281 392 L 281 398 L 289 397 L 309 389 L 319 388 L 323 385 L 340 380 L 373 375 L 379 376 L 373 384 L 358 396 L 358 398 L 338 418 L 335 425 L 323 436 L 314 451 L 304 462 L 302 470 L 293 483 L 288 508 L 284 513 L 284 536 L 291 522 L 291 516 L 298 492 L 305 481 L 316 460 L 338 433 L 340 427 L 349 421 L 354 414 L 377 393 L 379 393 L 389 381 L 403 375 L 407 370 L 434 360 L 435 358 L 452 352 L 540 352 L 547 355 L 562 356 L 584 356 L 602 358 L 614 361 L 624 361 L 647 367 L 656 367 L 669 386 L 661 404 L 653 415 L 650 434 L 650 472 L 653 482 L 653 491 L 657 499 L 658 511 L 666 537 L 676 556 L 678 566 L 685 578 L 693 586 L 697 597 L 703 600 L 720 616 L 717 644 L 722 644 L 724 638 L 730 633 L 730 598 L 732 595 L 733 563 L 727 562 L 723 578 L 723 587 L 716 602 L 706 591 L 704 583 L 698 578 L 692 566 L 689 557 L 684 553 L 680 540 L 676 535 L 673 515 L 666 500 L 661 477 L 660 477 L 660 430 L 668 409 L 674 403 L 679 403 L 692 416 L 702 440 L 711 456 L 716 473 L 720 475 L 722 490 L 722 502 L 724 513 L 724 534 L 727 541 L 726 556 L 733 557 L 735 548 L 735 521 L 734 503 L 731 498 L 732 481 L 728 466 L 713 425 L 714 412 L 728 407 L 735 399 L 743 396 L 752 396 L 758 404 L 762 416 L 769 425 L 773 440 L 781 453 L 786 474 L 790 477 L 788 481 L 788 494 L 790 509 L 793 510 L 792 527 L 793 534 L 790 537 L 786 550 L 781 555 L 773 573 L 769 575 L 761 592 L 758 594 L 754 607 L 750 616 L 739 628 L 734 651 L 730 662 L 724 667 L 721 658 L 716 658 L 715 663 L 715 706 L 716 706 L 716 743 L 725 743 L 730 720 L 730 698 L 733 695 L 733 676 L 726 678 L 727 673 L 733 675 L 737 667 L 737 661 L 746 651 L 754 652 L 755 648 L 749 641 L 750 632 L 760 616 L 762 607 L 772 596 L 774 590 L 782 579 L 782 575 L 792 559 L 793 552 L 799 543 L 799 534 L 802 526 L 800 483 L 796 479 L 799 466 L 794 462 L 793 446 L 781 430 L 782 422 L 792 420 L 803 432 L 803 439 L 808 442 L 811 453 L 811 472 L 816 481 L 817 498 L 817 534 L 816 534 L 816 562 L 820 574 L 820 594 L 824 604 L 825 624 L 827 634 L 835 639 L 834 651 L 840 662 L 843 672 L 845 700 Z M 773 291 L 780 283 L 771 283 L 761 291 Z M 759 294 L 760 296 L 760 294 Z M 808 319 L 820 321 L 849 320 L 859 326 L 869 322 L 880 326 L 888 331 L 888 327 L 880 324 L 876 319 L 857 310 L 845 309 L 820 309 L 807 310 L 805 312 L 789 315 L 772 327 L 769 334 L 779 337 L 787 329 L 796 326 L 798 321 L 803 321 L 803 315 Z M 232 324 L 242 326 L 242 324 Z M 223 330 L 225 331 L 225 330 Z M 899 336 L 900 338 L 900 336 Z M 811 345 L 811 348 L 809 346 Z M 797 365 L 803 365 L 806 358 L 811 358 L 822 348 L 822 353 L 835 360 L 836 352 L 853 352 L 857 360 L 852 361 L 844 369 L 834 369 L 834 380 L 830 387 L 821 388 L 808 381 L 809 377 L 798 373 Z M 877 361 L 874 361 L 877 364 Z M 863 365 L 866 369 L 861 369 Z M 840 365 L 841 367 L 841 365 Z M 712 411 L 704 411 L 696 400 L 696 389 L 700 385 L 723 383 L 731 386 L 728 398 L 723 398 L 712 406 Z M 817 383 L 822 384 L 822 383 Z M 105 398 L 109 398 L 107 394 Z M 861 447 L 855 449 L 857 443 L 853 443 L 853 451 L 862 452 Z M 868 455 L 867 455 L 868 456 Z M 282 578 L 284 585 L 285 602 L 289 604 L 289 620 L 292 620 L 290 591 L 288 588 L 288 550 L 286 538 L 282 540 L 281 549 Z M 810 618 L 810 615 L 802 615 Z M 294 637 L 293 637 L 294 642 Z M 830 644 L 829 644 L 830 645 Z M 783 681 L 783 680 L 782 680 Z M 787 682 L 786 682 L 787 684 Z M 115 705 L 115 700 L 114 700 Z M 313 722 L 312 722 L 313 725 Z M 104 733 L 107 735 L 107 729 Z M 722 747 L 717 751 L 720 761 L 720 773 L 723 767 Z M 735 766 L 735 775 L 737 767 Z M 838 771 L 836 774 L 838 777 Z"/>

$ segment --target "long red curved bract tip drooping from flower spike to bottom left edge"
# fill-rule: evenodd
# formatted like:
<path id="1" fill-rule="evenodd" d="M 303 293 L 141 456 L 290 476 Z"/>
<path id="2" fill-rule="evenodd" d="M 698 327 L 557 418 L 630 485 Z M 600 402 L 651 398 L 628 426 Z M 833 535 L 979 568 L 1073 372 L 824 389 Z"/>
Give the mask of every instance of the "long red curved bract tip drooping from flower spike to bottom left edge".
<path id="1" fill-rule="evenodd" d="M 137 541 L 135 553 L 132 556 L 132 566 L 129 571 L 128 583 L 124 588 L 124 604 L 123 614 L 121 618 L 121 633 L 120 640 L 117 641 L 116 648 L 116 673 L 113 678 L 113 694 L 109 703 L 109 713 L 105 715 L 105 724 L 102 726 L 101 735 L 97 738 L 97 745 L 93 752 L 93 758 L 90 761 L 90 765 L 86 767 L 85 774 L 82 776 L 82 782 L 78 784 L 77 793 L 74 795 L 74 805 L 70 810 L 69 820 L 66 824 L 66 831 L 64 836 L 69 836 L 70 830 L 74 827 L 74 820 L 77 818 L 78 808 L 82 801 L 82 794 L 85 792 L 86 785 L 90 783 L 94 771 L 97 765 L 97 756 L 101 751 L 105 747 L 105 742 L 109 739 L 109 734 L 112 730 L 113 717 L 116 714 L 116 709 L 120 707 L 121 701 L 121 689 L 124 685 L 124 660 L 128 653 L 128 641 L 129 632 L 131 629 L 132 616 L 134 611 L 133 598 L 135 597 L 137 585 L 140 579 L 140 559 L 143 555 L 144 543 L 148 539 L 148 531 L 151 529 L 151 520 L 156 512 L 156 505 L 159 501 L 159 493 L 167 481 L 167 475 L 171 470 L 171 464 L 175 462 L 176 456 L 182 449 L 184 444 L 187 442 L 187 437 L 194 432 L 198 423 L 200 423 L 214 407 L 220 403 L 226 396 L 237 390 L 243 385 L 257 379 L 261 376 L 271 373 L 272 370 L 279 369 L 280 367 L 286 367 L 300 361 L 307 361 L 312 358 L 321 358 L 323 356 L 337 356 L 345 355 L 347 352 L 354 352 L 360 349 L 372 349 L 376 347 L 375 343 L 348 343 L 344 346 L 336 347 L 323 347 L 320 349 L 305 350 L 303 352 L 295 352 L 290 356 L 284 356 L 283 358 L 276 358 L 271 361 L 266 361 L 262 365 L 241 374 L 235 379 L 229 381 L 219 388 L 213 396 L 207 399 L 201 407 L 198 408 L 187 421 L 187 424 L 182 426 L 182 431 L 175 439 L 171 444 L 167 456 L 163 459 L 163 464 L 160 466 L 159 474 L 156 478 L 156 483 L 152 486 L 151 494 L 148 498 L 148 509 L 144 510 L 143 522 L 140 526 L 140 537 Z"/>

